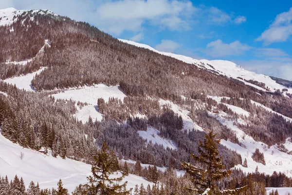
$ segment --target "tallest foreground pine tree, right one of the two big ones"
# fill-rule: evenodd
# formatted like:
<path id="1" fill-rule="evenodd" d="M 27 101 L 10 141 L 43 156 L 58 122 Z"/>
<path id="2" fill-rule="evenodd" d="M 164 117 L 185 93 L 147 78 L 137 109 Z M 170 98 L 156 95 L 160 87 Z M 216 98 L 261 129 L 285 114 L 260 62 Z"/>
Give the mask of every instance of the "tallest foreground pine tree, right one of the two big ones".
<path id="1" fill-rule="evenodd" d="M 210 131 L 209 134 L 206 134 L 203 142 L 200 140 L 198 146 L 199 156 L 191 154 L 195 161 L 200 162 L 204 166 L 202 169 L 186 162 L 183 162 L 182 167 L 191 176 L 195 188 L 200 194 L 232 195 L 242 192 L 245 187 L 221 192 L 218 189 L 217 181 L 223 177 L 230 176 L 231 170 L 222 171 L 224 165 L 221 163 L 222 157 L 219 156 L 218 152 L 220 140 L 215 140 L 215 136 L 213 131 Z"/>

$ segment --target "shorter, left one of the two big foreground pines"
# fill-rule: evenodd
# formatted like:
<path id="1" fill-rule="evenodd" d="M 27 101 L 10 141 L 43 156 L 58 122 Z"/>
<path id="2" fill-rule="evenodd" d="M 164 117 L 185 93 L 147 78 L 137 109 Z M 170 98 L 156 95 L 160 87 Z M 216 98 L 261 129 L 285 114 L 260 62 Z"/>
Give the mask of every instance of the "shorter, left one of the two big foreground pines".
<path id="1" fill-rule="evenodd" d="M 91 167 L 92 176 L 87 177 L 91 184 L 89 192 L 93 195 L 129 195 L 129 191 L 123 190 L 128 182 L 119 185 L 124 175 L 110 178 L 110 175 L 114 173 L 112 166 L 115 165 L 106 142 L 103 142 L 102 149 L 97 156 L 94 156 L 94 160 L 96 165 Z"/>

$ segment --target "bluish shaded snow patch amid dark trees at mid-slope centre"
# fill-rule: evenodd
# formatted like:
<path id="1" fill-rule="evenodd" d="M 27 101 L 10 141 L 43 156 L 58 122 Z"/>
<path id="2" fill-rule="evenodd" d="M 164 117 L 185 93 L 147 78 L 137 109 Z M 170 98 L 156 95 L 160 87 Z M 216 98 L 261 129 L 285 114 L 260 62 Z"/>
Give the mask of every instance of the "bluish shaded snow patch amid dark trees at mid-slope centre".
<path id="1" fill-rule="evenodd" d="M 158 135 L 159 131 L 153 127 L 147 127 L 147 131 L 138 131 L 138 134 L 144 139 L 147 139 L 147 142 L 151 140 L 152 144 L 157 143 L 159 145 L 163 145 L 165 149 L 167 147 L 173 150 L 178 149 L 174 141 L 160 137 Z"/>

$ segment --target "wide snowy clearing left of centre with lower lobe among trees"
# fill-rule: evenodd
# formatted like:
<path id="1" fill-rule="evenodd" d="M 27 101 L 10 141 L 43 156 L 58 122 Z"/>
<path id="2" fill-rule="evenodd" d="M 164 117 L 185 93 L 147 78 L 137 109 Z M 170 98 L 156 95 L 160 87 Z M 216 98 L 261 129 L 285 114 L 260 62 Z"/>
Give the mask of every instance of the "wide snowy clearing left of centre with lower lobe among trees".
<path id="1" fill-rule="evenodd" d="M 77 113 L 74 117 L 81 120 L 83 123 L 87 122 L 89 117 L 93 120 L 102 120 L 102 114 L 98 112 L 97 99 L 103 98 L 106 102 L 109 98 L 118 98 L 124 100 L 126 95 L 119 89 L 118 86 L 107 86 L 105 84 L 96 84 L 94 86 L 86 86 L 79 89 L 66 90 L 58 94 L 52 95 L 55 99 L 67 99 L 73 101 L 80 101 L 83 103 L 88 103 L 89 105 L 83 106 L 81 109 L 75 105 L 77 108 Z"/>

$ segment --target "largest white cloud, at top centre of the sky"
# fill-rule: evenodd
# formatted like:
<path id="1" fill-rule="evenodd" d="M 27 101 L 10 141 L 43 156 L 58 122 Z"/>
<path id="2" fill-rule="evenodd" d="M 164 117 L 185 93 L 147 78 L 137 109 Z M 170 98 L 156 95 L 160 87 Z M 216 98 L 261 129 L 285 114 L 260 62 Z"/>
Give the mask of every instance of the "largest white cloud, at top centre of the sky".
<path id="1" fill-rule="evenodd" d="M 118 0 L 101 4 L 96 13 L 98 25 L 119 35 L 126 30 L 138 32 L 147 21 L 160 28 L 185 30 L 195 11 L 189 0 Z"/>

